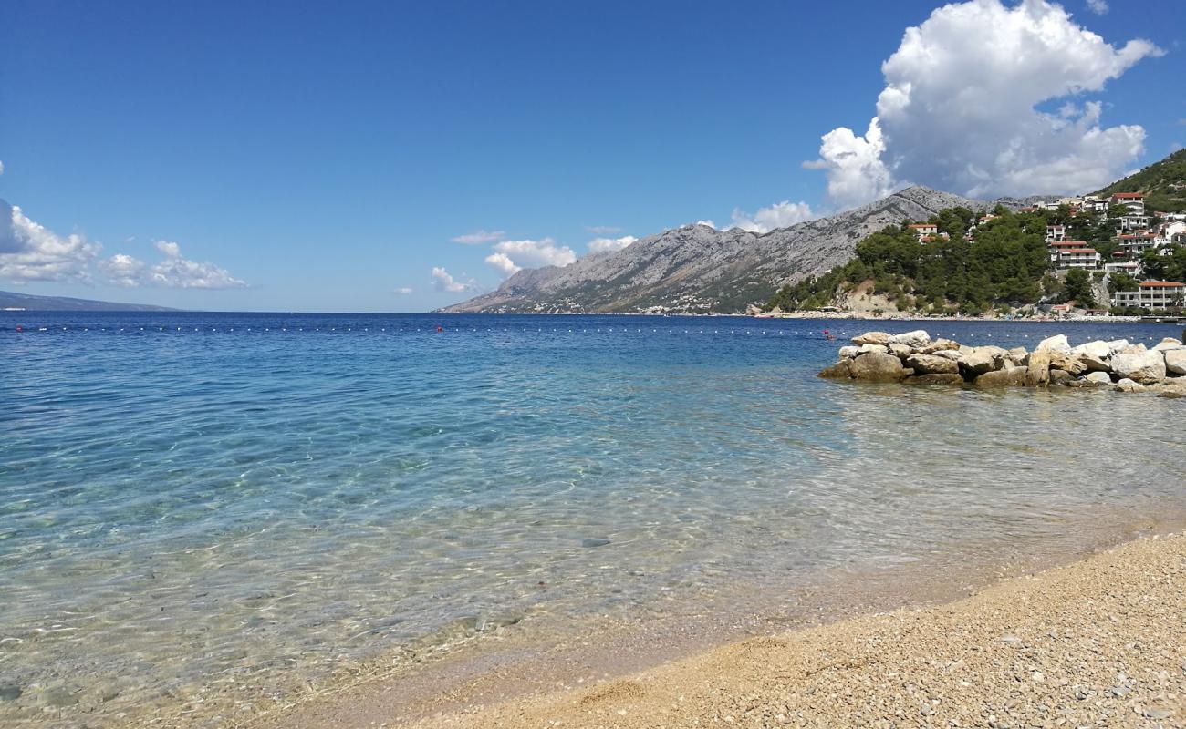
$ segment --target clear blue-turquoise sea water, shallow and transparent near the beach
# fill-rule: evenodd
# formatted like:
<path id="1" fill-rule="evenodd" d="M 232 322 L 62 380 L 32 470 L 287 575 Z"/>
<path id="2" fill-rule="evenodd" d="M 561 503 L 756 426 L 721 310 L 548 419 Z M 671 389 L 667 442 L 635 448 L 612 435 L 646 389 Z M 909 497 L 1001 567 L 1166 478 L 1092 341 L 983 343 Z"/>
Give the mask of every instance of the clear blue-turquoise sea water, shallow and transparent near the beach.
<path id="1" fill-rule="evenodd" d="M 523 619 L 739 581 L 793 597 L 823 570 L 1039 549 L 1095 510 L 1186 500 L 1184 401 L 824 382 L 825 327 L 873 325 L 0 314 L 0 720 L 103 725 Z"/>

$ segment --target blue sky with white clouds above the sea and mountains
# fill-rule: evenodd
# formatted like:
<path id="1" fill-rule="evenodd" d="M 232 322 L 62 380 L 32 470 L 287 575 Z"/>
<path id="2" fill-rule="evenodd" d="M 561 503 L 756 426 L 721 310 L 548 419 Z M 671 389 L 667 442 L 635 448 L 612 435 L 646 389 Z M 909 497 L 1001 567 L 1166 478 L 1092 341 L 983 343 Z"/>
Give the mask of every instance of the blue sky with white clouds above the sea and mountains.
<path id="1" fill-rule="evenodd" d="M 0 289 L 417 312 L 908 184 L 1186 143 L 1181 0 L 4 0 Z"/>

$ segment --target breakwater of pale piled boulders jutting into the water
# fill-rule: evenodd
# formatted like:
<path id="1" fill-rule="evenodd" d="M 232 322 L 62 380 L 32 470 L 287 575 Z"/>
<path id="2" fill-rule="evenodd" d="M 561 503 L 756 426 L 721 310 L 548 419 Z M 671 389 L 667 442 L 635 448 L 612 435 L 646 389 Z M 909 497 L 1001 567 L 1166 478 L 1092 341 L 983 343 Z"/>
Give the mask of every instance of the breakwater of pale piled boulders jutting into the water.
<path id="1" fill-rule="evenodd" d="M 1112 388 L 1186 396 L 1186 344 L 1162 339 L 1153 347 L 1127 339 L 1071 346 L 1065 334 L 1025 347 L 973 347 L 931 339 L 925 331 L 866 332 L 840 347 L 836 364 L 821 377 L 959 386 Z"/>

